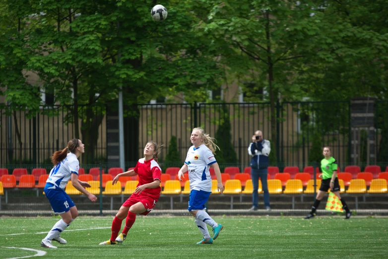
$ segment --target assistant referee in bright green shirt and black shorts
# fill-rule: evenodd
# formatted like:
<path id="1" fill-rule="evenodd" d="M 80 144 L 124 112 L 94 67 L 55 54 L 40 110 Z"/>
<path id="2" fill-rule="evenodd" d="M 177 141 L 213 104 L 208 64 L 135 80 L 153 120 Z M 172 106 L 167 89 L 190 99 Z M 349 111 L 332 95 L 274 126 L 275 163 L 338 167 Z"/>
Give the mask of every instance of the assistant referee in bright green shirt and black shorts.
<path id="1" fill-rule="evenodd" d="M 352 216 L 352 212 L 349 210 L 346 202 L 339 195 L 339 183 L 337 178 L 337 162 L 331 156 L 330 147 L 323 147 L 323 156 L 324 158 L 321 161 L 321 169 L 322 169 L 322 183 L 320 190 L 318 191 L 317 197 L 314 201 L 313 207 L 309 215 L 305 217 L 305 219 L 310 219 L 315 217 L 315 211 L 321 203 L 321 200 L 326 194 L 326 192 L 330 189 L 342 202 L 342 208 L 346 211 L 345 219 L 349 219 Z"/>

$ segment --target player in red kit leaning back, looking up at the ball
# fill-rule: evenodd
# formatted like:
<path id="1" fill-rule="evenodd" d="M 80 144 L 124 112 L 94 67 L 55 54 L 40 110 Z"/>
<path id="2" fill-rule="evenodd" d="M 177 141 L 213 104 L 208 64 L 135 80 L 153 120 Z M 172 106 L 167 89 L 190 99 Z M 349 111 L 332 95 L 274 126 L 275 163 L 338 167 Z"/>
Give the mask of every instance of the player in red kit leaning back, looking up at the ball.
<path id="1" fill-rule="evenodd" d="M 155 206 L 160 196 L 160 178 L 162 171 L 157 163 L 157 157 L 162 145 L 153 141 L 147 142 L 144 147 L 144 158 L 139 159 L 133 170 L 118 174 L 112 184 L 116 184 L 120 176 L 139 176 L 136 190 L 123 203 L 112 222 L 112 235 L 108 241 L 100 245 L 116 245 L 123 242 L 136 220 L 136 214 L 147 215 Z M 126 219 L 125 227 L 120 233 L 123 220 Z"/>

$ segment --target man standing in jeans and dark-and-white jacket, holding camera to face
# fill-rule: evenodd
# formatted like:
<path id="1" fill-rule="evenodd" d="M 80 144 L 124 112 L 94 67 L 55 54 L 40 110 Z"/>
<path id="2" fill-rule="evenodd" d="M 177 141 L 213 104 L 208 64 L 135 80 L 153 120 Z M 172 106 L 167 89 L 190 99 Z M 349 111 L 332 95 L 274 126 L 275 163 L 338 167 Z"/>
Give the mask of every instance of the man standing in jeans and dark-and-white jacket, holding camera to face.
<path id="1" fill-rule="evenodd" d="M 259 178 L 261 181 L 262 190 L 264 192 L 264 207 L 267 211 L 271 210 L 269 205 L 269 193 L 267 185 L 268 177 L 268 164 L 269 164 L 269 153 L 271 152 L 271 143 L 269 140 L 263 139 L 262 132 L 257 130 L 255 135 L 252 136 L 252 143 L 248 147 L 248 153 L 252 156 L 251 159 L 251 175 L 253 183 L 253 194 L 252 194 L 252 208 L 253 210 L 259 209 Z"/>

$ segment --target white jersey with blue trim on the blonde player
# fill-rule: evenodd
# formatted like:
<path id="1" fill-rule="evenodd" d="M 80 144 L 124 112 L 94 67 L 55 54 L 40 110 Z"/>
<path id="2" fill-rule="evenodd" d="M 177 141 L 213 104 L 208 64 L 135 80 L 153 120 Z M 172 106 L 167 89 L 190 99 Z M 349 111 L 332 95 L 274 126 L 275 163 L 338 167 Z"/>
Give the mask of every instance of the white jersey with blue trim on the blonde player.
<path id="1" fill-rule="evenodd" d="M 209 169 L 216 162 L 213 153 L 204 144 L 189 148 L 185 164 L 189 168 L 190 190 L 211 192 Z"/>

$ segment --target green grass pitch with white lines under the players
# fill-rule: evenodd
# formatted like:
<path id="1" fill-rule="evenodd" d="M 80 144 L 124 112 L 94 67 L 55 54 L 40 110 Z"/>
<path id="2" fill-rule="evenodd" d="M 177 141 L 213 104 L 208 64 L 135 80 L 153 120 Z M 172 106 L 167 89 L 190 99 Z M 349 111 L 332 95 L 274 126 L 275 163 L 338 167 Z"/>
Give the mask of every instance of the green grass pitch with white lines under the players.
<path id="1" fill-rule="evenodd" d="M 64 233 L 66 245 L 40 247 L 58 218 L 0 218 L 0 258 L 387 258 L 388 218 L 214 217 L 224 225 L 213 245 L 190 216 L 137 216 L 122 245 L 110 238 L 113 217 L 78 217 Z M 124 225 L 124 222 L 123 222 Z M 211 229 L 209 228 L 210 233 Z M 43 232 L 43 233 L 41 233 Z M 7 248 L 14 247 L 14 248 Z"/>

